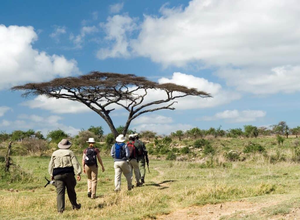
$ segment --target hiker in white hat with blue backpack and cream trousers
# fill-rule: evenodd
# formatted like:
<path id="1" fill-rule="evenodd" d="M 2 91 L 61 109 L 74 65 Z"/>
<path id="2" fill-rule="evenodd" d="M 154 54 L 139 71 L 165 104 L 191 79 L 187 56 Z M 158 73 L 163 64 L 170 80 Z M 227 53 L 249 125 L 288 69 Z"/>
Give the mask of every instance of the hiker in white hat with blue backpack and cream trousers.
<path id="1" fill-rule="evenodd" d="M 134 186 L 131 183 L 131 173 L 128 165 L 129 151 L 127 145 L 124 143 L 126 138 L 124 135 L 120 134 L 116 138 L 116 143 L 113 144 L 111 149 L 111 156 L 114 158 L 114 168 L 115 168 L 115 192 L 121 190 L 121 176 L 122 173 L 127 181 L 127 188 L 131 190 Z"/>

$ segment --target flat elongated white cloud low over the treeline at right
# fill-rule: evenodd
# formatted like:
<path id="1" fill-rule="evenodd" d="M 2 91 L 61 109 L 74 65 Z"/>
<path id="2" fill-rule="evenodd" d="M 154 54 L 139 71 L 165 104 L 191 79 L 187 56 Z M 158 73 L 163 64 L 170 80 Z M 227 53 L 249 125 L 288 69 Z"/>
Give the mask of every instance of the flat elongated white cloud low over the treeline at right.
<path id="1" fill-rule="evenodd" d="M 265 117 L 266 112 L 261 110 L 225 110 L 223 112 L 219 112 L 214 116 L 205 116 L 201 118 L 203 121 L 215 121 L 220 119 L 225 119 L 231 123 L 235 122 L 250 122 L 256 121 L 257 118 Z"/>

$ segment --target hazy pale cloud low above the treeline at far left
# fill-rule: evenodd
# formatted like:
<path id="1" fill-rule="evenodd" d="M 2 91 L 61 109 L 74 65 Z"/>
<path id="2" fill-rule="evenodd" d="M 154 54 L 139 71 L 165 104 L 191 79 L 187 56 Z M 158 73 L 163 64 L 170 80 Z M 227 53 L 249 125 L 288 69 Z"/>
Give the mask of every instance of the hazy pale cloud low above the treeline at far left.
<path id="1" fill-rule="evenodd" d="M 2 120 L 0 123 L 1 127 L 13 127 L 15 130 L 24 130 L 24 129 L 34 129 L 39 130 L 43 133 L 44 136 L 47 135 L 48 131 L 61 129 L 66 133 L 71 134 L 71 136 L 76 135 L 80 129 L 74 128 L 72 126 L 65 125 L 59 121 L 63 118 L 57 115 L 50 115 L 47 117 L 39 116 L 39 115 L 18 115 L 18 120 L 15 121 L 7 121 Z"/>

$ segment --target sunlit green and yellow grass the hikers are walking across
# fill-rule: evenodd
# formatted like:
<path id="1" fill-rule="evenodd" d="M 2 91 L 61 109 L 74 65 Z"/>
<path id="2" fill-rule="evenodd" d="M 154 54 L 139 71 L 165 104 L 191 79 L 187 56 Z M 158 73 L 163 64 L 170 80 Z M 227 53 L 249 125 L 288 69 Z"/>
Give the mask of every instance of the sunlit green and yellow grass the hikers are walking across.
<path id="1" fill-rule="evenodd" d="M 261 144 L 268 155 L 249 154 L 244 161 L 226 161 L 222 156 L 223 146 L 241 151 L 249 140 L 211 140 L 211 145 L 217 149 L 218 154 L 208 159 L 208 163 L 152 159 L 151 173 L 146 173 L 146 184 L 133 191 L 126 191 L 126 181 L 122 176 L 122 191 L 119 194 L 113 192 L 113 160 L 103 157 L 106 171 L 98 173 L 99 198 L 91 200 L 86 196 L 87 179 L 86 175 L 82 175 L 82 180 L 76 185 L 82 209 L 71 210 L 66 197 L 66 211 L 61 216 L 56 213 L 55 188 L 52 185 L 44 188 L 44 177 L 49 177 L 47 168 L 50 157 L 13 156 L 13 162 L 26 175 L 30 175 L 31 179 L 29 182 L 0 179 L 1 219 L 155 219 L 164 213 L 192 205 L 202 206 L 241 199 L 263 203 L 272 198 L 282 200 L 282 204 L 261 209 L 257 213 L 236 213 L 222 218 L 280 217 L 300 204 L 299 164 L 289 159 L 271 162 L 269 155 L 282 148 L 286 157 L 290 157 L 289 151 L 294 140 L 287 140 L 282 148 L 271 145 L 274 138 L 260 141 L 251 139 L 252 142 Z M 80 161 L 81 155 L 77 158 Z M 9 191 L 11 188 L 13 192 Z"/>

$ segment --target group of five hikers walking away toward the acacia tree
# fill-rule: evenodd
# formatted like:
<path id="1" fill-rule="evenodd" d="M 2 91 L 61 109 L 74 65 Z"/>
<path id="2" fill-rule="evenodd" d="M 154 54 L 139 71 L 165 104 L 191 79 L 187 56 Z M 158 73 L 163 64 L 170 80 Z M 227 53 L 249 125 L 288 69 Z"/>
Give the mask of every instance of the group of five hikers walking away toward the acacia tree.
<path id="1" fill-rule="evenodd" d="M 139 134 L 130 134 L 129 141 L 126 141 L 124 135 L 116 137 L 116 143 L 111 148 L 111 156 L 114 160 L 115 169 L 115 192 L 121 190 L 121 176 L 122 173 L 127 181 L 127 189 L 132 190 L 133 173 L 136 180 L 136 186 L 141 186 L 145 183 L 146 163 L 149 163 L 148 152 L 145 144 L 139 140 Z M 88 178 L 88 193 L 87 196 L 91 199 L 96 198 L 96 188 L 98 179 L 98 162 L 102 167 L 102 172 L 105 171 L 103 162 L 100 157 L 100 151 L 95 148 L 95 139 L 89 138 L 88 148 L 85 148 L 82 155 L 82 167 L 83 173 L 86 173 Z M 57 191 L 57 210 L 58 213 L 64 212 L 65 208 L 65 190 L 73 209 L 80 209 L 81 204 L 77 203 L 75 186 L 76 179 L 80 181 L 80 174 L 82 173 L 81 166 L 73 153 L 69 148 L 72 143 L 67 139 L 62 139 L 58 143 L 58 150 L 54 151 L 48 172 L 51 176 L 51 180 L 54 180 L 54 186 Z M 76 176 L 76 179 L 75 179 Z"/>

